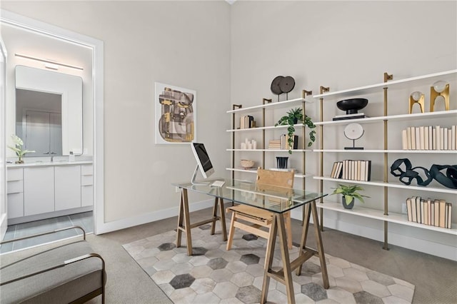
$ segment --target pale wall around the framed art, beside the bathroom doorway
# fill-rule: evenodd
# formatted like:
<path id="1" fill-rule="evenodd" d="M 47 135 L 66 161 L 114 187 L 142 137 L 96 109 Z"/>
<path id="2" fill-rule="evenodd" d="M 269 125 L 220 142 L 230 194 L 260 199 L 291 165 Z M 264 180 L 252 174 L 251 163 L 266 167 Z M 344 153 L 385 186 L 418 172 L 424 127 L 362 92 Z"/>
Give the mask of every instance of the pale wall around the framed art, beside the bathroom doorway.
<path id="1" fill-rule="evenodd" d="M 104 215 L 121 222 L 112 227 L 175 216 L 171 183 L 190 181 L 196 166 L 190 146 L 154 144 L 154 81 L 196 90 L 197 140 L 218 175 L 228 176 L 229 4 L 2 1 L 1 8 L 104 41 Z"/>

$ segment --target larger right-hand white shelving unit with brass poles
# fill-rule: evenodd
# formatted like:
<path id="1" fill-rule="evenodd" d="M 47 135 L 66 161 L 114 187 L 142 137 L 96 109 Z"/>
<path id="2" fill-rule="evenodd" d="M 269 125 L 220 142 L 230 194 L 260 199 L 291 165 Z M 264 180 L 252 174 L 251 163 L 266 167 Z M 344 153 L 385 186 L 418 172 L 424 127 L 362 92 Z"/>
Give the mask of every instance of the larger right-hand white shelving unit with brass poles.
<path id="1" fill-rule="evenodd" d="M 323 141 L 321 141 L 321 147 L 318 149 L 314 149 L 313 151 L 316 153 L 320 153 L 321 156 L 321 172 L 319 176 L 313 176 L 316 180 L 321 181 L 321 191 L 323 191 L 323 182 L 324 181 L 331 181 L 336 183 L 357 183 L 361 185 L 369 185 L 369 186 L 378 186 L 383 189 L 383 193 L 379 194 L 380 198 L 383 199 L 383 206 L 380 206 L 379 210 L 374 208 L 364 208 L 364 207 L 357 207 L 356 210 L 348 210 L 343 208 L 341 203 L 333 203 L 330 201 L 321 201 L 318 203 L 318 208 L 321 208 L 321 229 L 323 229 L 323 211 L 324 210 L 331 210 L 336 211 L 339 213 L 348 213 L 354 216 L 361 216 L 366 218 L 373 218 L 379 221 L 384 222 L 384 249 L 388 249 L 388 223 L 397 223 L 405 226 L 411 226 L 416 228 L 422 228 L 426 230 L 434 230 L 440 233 L 448 233 L 451 235 L 457 235 L 457 225 L 453 223 L 451 225 L 451 229 L 449 228 L 439 228 L 436 226 L 428 226 L 421 223 L 413 223 L 408 221 L 407 216 L 401 213 L 391 213 L 388 211 L 388 198 L 387 193 L 389 188 L 400 188 L 400 189 L 408 189 L 413 191 L 428 191 L 434 193 L 450 193 L 454 196 L 457 195 L 456 189 L 445 188 L 445 187 L 423 187 L 423 186 L 406 186 L 405 184 L 399 181 L 389 181 L 389 173 L 388 168 L 390 168 L 390 164 L 387 163 L 388 155 L 393 153 L 403 153 L 403 154 L 411 154 L 411 153 L 422 153 L 422 154 L 433 154 L 434 156 L 439 157 L 448 157 L 448 156 L 456 156 L 457 151 L 451 150 L 398 150 L 398 149 L 389 149 L 387 147 L 387 135 L 386 130 L 389 121 L 414 121 L 414 120 L 423 120 L 423 119 L 432 119 L 432 118 L 439 118 L 446 123 L 453 125 L 456 122 L 457 117 L 457 110 L 451 111 L 434 111 L 434 112 L 426 112 L 426 113 L 413 113 L 413 114 L 401 114 L 401 115 L 388 115 L 387 108 L 388 108 L 388 92 L 392 90 L 400 90 L 411 88 L 415 86 L 427 86 L 428 88 L 431 86 L 431 83 L 434 83 L 438 80 L 445 80 L 450 83 L 451 86 L 457 86 L 457 70 L 450 70 L 450 71 L 443 71 L 434 74 L 428 74 L 423 76 L 411 77 L 411 78 L 404 78 L 401 80 L 388 80 L 391 78 L 388 74 L 384 74 L 385 81 L 383 83 L 376 83 L 369 86 L 361 86 L 357 88 L 349 88 L 341 91 L 328 91 L 328 88 L 321 87 L 321 92 L 317 95 L 314 95 L 313 98 L 319 98 L 320 100 L 320 108 L 321 108 L 321 121 L 316 122 L 316 126 L 318 126 L 320 131 L 320 136 L 323 138 L 323 127 L 324 126 L 332 126 L 332 125 L 342 125 L 347 123 L 382 123 L 383 126 L 380 128 L 384 129 L 383 132 L 383 139 L 384 139 L 384 149 L 368 149 L 368 150 L 344 150 L 344 149 L 326 149 L 323 147 Z M 381 93 L 384 94 L 384 113 L 381 116 L 376 117 L 369 117 L 369 118 L 357 118 L 357 119 L 350 119 L 350 120 L 339 120 L 339 121 L 323 121 L 323 101 L 336 101 L 345 99 L 345 98 L 355 98 L 357 96 L 363 96 L 366 94 L 372 93 Z M 456 101 L 456 96 L 451 96 L 451 102 Z M 392 106 L 392 105 L 391 105 Z M 328 176 L 324 175 L 323 172 L 323 160 L 326 153 L 336 153 L 337 156 L 340 153 L 345 153 L 342 155 L 347 155 L 347 153 L 381 153 L 384 156 L 384 180 L 383 181 L 351 181 L 351 180 L 343 180 L 339 178 L 329 178 Z M 404 156 L 403 156 L 404 157 Z M 453 158 L 455 162 L 456 159 Z M 453 163 L 452 163 L 453 164 Z M 390 178 L 392 179 L 392 178 Z M 456 197 L 456 196 L 455 196 Z M 328 198 L 327 198 L 328 199 Z M 394 202 L 391 202 L 394 203 Z M 395 202 L 398 203 L 398 202 Z M 454 212 L 457 208 L 456 201 L 448 202 L 453 203 Z"/>

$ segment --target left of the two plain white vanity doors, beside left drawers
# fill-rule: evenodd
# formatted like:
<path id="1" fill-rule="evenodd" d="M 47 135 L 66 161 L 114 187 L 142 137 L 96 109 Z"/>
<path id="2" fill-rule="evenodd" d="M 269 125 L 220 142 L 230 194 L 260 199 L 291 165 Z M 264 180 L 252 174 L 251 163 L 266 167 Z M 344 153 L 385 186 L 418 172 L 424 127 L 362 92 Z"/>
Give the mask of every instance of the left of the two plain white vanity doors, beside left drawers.
<path id="1" fill-rule="evenodd" d="M 24 168 L 24 216 L 54 211 L 54 167 Z"/>

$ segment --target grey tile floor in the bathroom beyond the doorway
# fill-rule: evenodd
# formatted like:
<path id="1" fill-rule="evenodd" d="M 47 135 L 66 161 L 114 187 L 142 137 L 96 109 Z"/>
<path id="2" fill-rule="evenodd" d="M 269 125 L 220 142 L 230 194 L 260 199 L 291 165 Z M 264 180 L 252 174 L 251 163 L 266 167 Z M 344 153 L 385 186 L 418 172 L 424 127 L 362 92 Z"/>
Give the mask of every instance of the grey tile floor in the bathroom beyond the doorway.
<path id="1" fill-rule="evenodd" d="M 94 216 L 93 212 L 75 213 L 69 216 L 59 216 L 57 218 L 46 218 L 41 221 L 34 221 L 29 223 L 21 223 L 16 225 L 8 226 L 6 230 L 4 240 L 11 240 L 12 238 L 21 238 L 26 235 L 34 235 L 36 233 L 44 233 L 59 228 L 65 228 L 69 226 L 81 226 L 87 233 L 94 232 Z M 19 240 L 17 242 L 6 243 L 1 245 L 0 253 L 7 253 L 22 248 L 31 247 L 34 245 L 41 245 L 44 243 L 50 243 L 55 240 L 61 240 L 64 238 L 71 238 L 72 236 L 81 235 L 81 230 L 71 229 L 64 230 L 59 233 L 53 233 L 50 235 L 42 235 L 36 238 L 28 240 Z"/>

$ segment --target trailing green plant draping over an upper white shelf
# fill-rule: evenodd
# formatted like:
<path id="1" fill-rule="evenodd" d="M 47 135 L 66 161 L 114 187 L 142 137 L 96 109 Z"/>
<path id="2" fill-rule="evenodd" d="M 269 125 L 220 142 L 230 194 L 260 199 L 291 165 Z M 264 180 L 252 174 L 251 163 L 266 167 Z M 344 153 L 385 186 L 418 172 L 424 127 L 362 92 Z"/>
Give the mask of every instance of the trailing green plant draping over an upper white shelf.
<path id="1" fill-rule="evenodd" d="M 293 148 L 293 133 L 295 133 L 294 125 L 298 122 L 303 123 L 304 125 L 308 126 L 308 128 L 316 128 L 316 125 L 311 121 L 309 116 L 303 116 L 303 109 L 302 108 L 291 108 L 289 111 L 286 112 L 287 115 L 281 117 L 274 126 L 288 126 L 287 127 L 287 143 L 288 143 L 288 153 L 292 154 Z M 309 140 L 308 147 L 311 147 L 314 141 L 316 141 L 316 137 L 314 136 L 316 131 L 311 130 L 309 132 Z"/>

